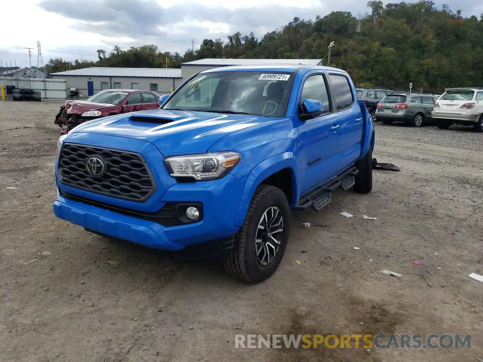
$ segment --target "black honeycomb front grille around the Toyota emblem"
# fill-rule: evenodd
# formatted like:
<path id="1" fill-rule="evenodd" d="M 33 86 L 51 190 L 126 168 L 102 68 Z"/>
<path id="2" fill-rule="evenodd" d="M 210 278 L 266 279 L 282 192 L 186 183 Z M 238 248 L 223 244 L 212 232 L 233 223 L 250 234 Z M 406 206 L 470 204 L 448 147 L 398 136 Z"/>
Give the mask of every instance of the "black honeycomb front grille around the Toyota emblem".
<path id="1" fill-rule="evenodd" d="M 86 169 L 90 156 L 101 158 L 106 170 L 92 176 Z M 142 202 L 155 191 L 156 183 L 138 153 L 65 143 L 59 158 L 59 181 L 64 185 L 129 201 Z"/>

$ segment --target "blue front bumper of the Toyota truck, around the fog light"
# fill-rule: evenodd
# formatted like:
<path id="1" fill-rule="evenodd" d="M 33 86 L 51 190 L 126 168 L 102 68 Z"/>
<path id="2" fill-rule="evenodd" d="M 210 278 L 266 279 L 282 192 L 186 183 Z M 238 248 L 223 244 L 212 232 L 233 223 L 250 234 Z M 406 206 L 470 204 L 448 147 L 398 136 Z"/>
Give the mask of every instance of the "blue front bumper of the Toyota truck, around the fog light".
<path id="1" fill-rule="evenodd" d="M 131 208 L 131 210 L 138 214 L 140 211 L 152 213 L 162 209 L 167 203 L 201 203 L 202 218 L 199 222 L 163 226 L 152 218 L 118 212 L 116 208 L 128 209 L 127 205 L 122 205 L 121 202 L 117 205 L 114 202 L 106 203 L 106 200 L 115 199 L 102 198 L 99 195 L 66 187 L 59 183 L 57 172 L 57 199 L 54 202 L 54 214 L 60 219 L 101 235 L 168 251 L 182 250 L 187 246 L 224 239 L 236 234 L 239 227 L 235 225 L 235 218 L 244 187 L 241 181 L 228 174 L 222 179 L 213 181 L 172 182 L 162 195 L 154 194 L 147 202 L 138 204 L 137 209 Z M 86 202 L 63 193 L 83 197 Z M 156 196 L 160 198 L 156 200 Z M 92 203 L 87 202 L 90 200 Z M 101 206 L 94 203 L 99 201 L 103 201 Z M 109 208 L 109 205 L 112 205 L 112 208 Z"/>

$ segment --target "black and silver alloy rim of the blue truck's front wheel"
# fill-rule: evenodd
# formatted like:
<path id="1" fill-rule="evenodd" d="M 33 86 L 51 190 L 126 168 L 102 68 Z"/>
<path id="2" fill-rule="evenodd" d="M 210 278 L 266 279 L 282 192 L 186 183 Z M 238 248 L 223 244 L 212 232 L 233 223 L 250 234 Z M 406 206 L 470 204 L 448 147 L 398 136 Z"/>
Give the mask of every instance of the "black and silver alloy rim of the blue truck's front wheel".
<path id="1" fill-rule="evenodd" d="M 256 260 L 261 265 L 268 265 L 275 258 L 284 231 L 284 217 L 276 206 L 263 213 L 256 230 L 255 251 Z"/>

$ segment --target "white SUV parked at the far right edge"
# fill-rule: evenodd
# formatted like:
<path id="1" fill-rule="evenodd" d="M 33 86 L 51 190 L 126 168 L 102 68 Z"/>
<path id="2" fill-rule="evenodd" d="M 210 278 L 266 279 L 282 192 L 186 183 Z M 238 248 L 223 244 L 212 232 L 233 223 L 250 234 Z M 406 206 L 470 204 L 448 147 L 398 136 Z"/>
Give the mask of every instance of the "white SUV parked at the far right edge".
<path id="1" fill-rule="evenodd" d="M 438 128 L 452 124 L 472 125 L 483 132 L 483 88 L 450 88 L 438 98 L 431 111 Z"/>

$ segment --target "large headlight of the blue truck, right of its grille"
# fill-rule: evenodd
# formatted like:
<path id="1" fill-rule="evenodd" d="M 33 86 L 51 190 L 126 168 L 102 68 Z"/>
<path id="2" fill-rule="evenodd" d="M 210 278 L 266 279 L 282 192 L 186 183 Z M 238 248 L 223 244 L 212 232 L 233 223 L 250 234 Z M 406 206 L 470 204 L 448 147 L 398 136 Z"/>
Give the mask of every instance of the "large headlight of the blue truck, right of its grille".
<path id="1" fill-rule="evenodd" d="M 216 152 L 168 157 L 164 164 L 172 177 L 213 180 L 226 175 L 241 160 L 238 152 Z"/>

